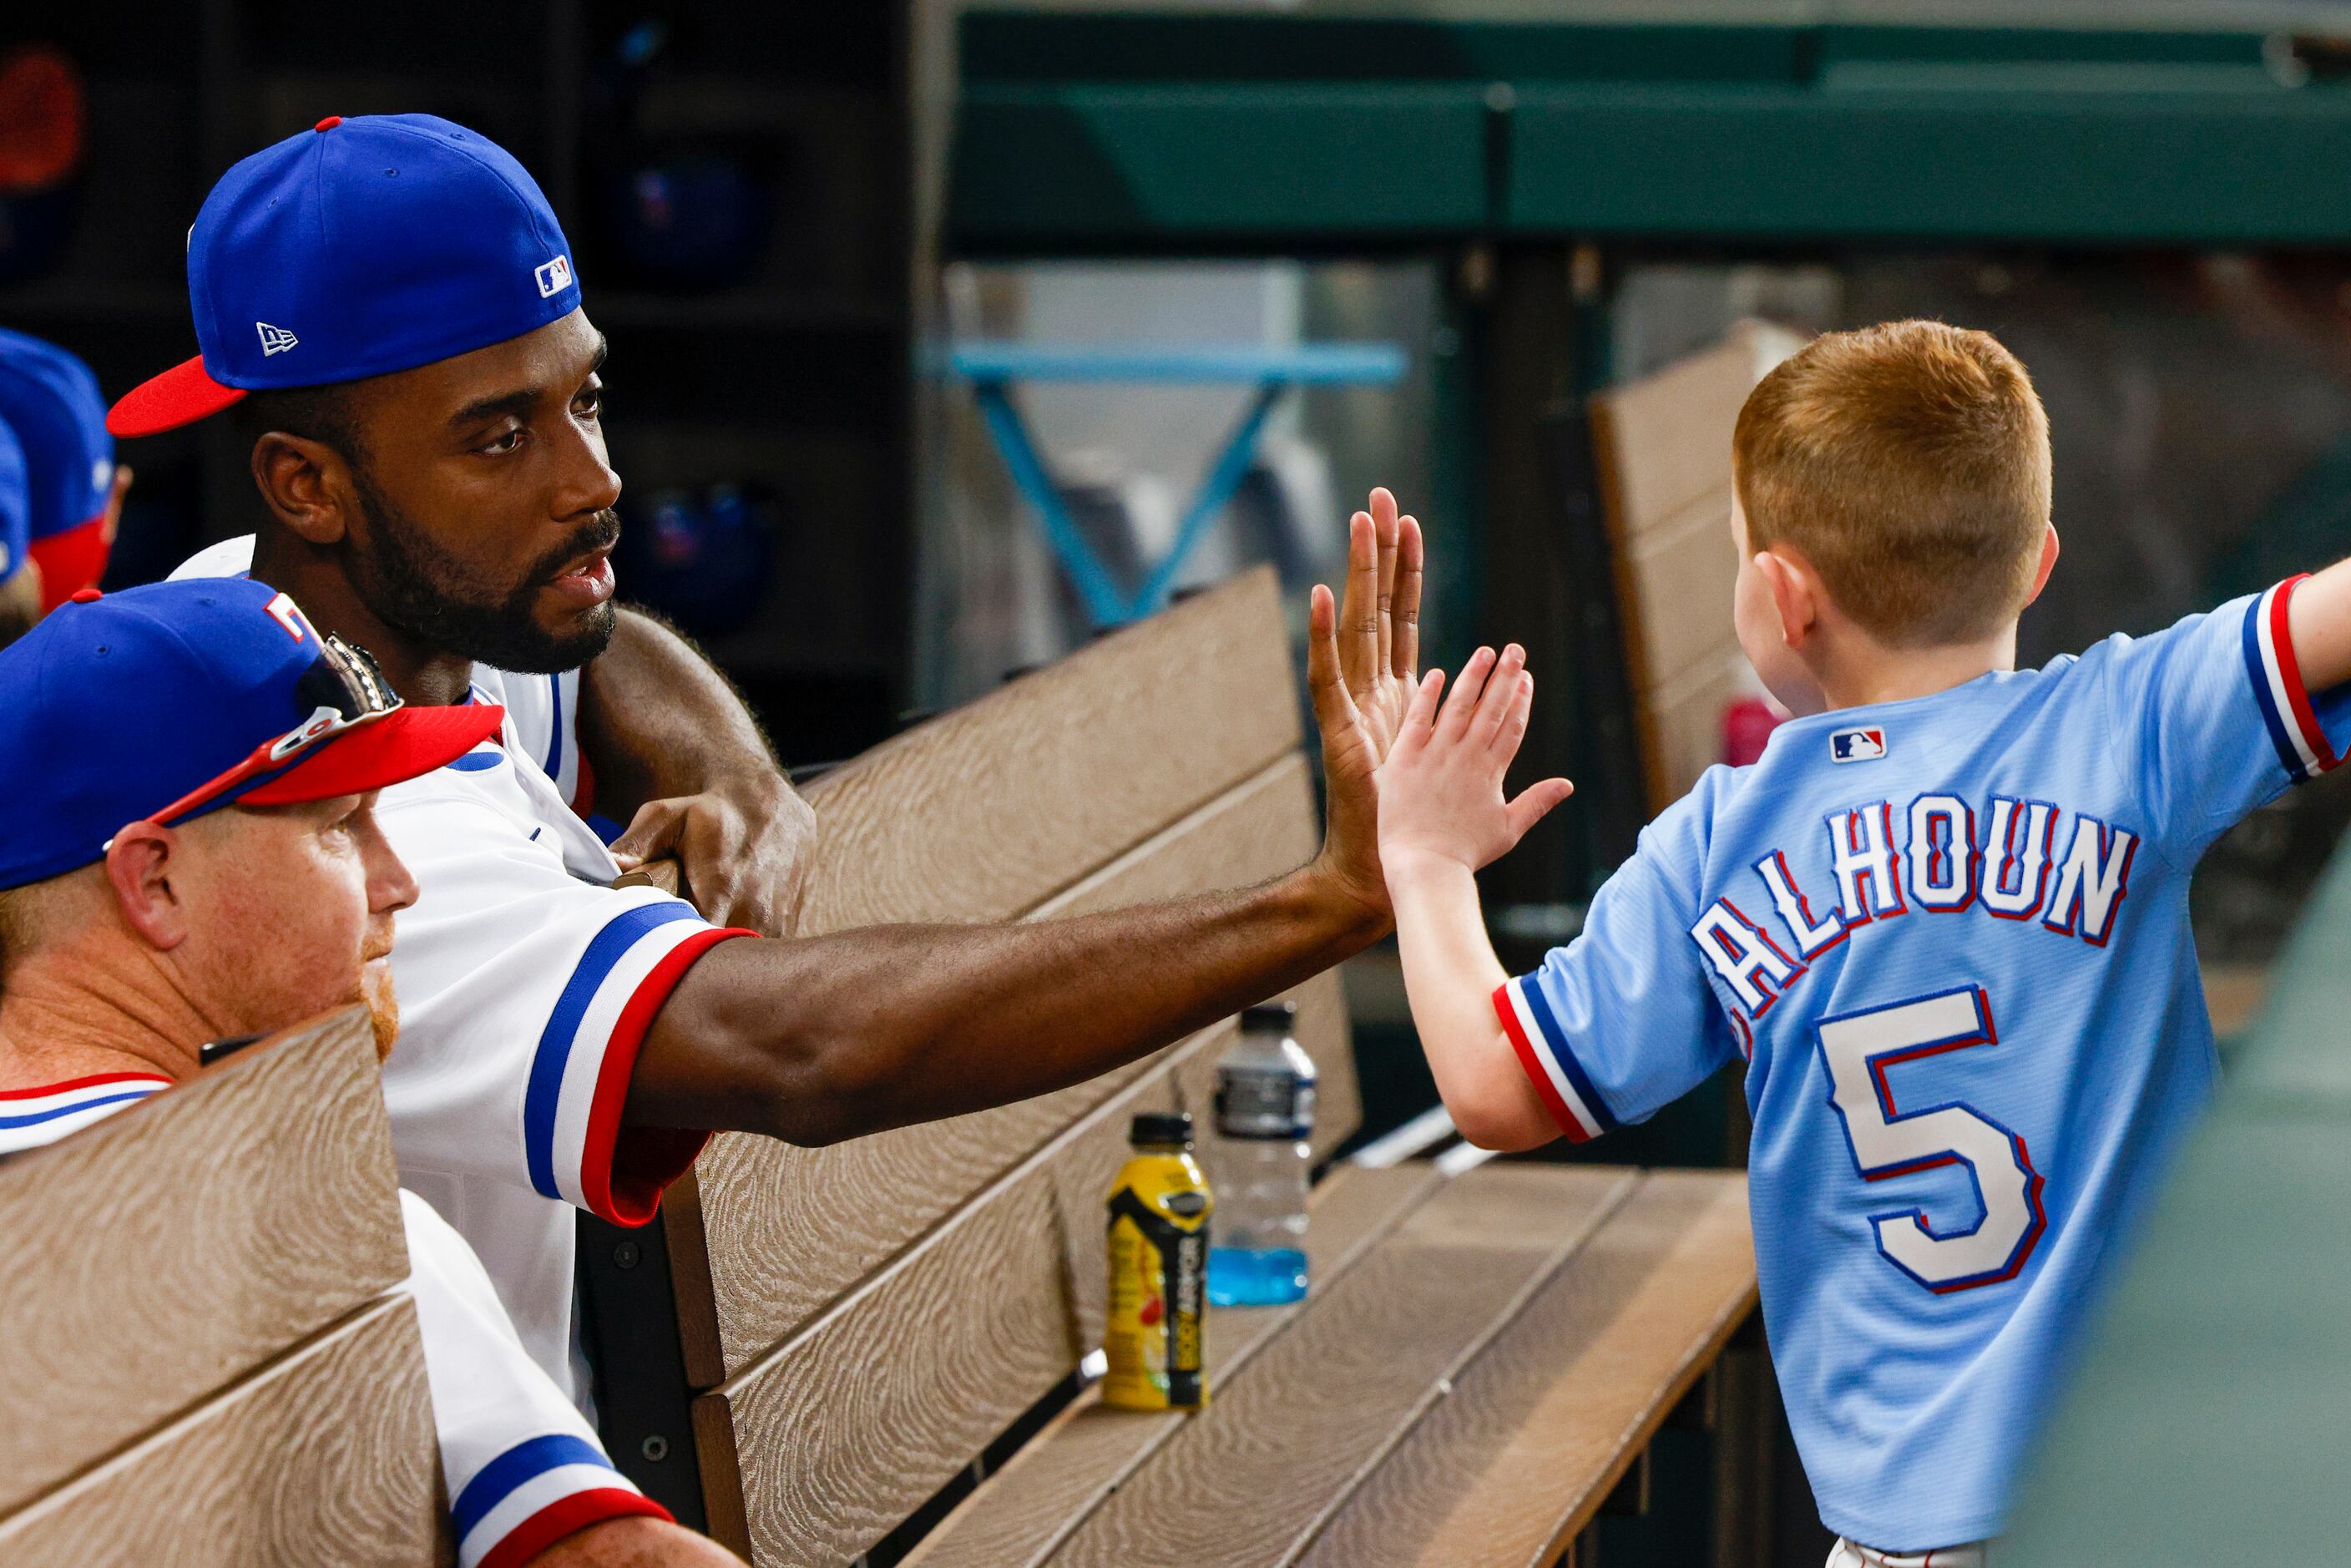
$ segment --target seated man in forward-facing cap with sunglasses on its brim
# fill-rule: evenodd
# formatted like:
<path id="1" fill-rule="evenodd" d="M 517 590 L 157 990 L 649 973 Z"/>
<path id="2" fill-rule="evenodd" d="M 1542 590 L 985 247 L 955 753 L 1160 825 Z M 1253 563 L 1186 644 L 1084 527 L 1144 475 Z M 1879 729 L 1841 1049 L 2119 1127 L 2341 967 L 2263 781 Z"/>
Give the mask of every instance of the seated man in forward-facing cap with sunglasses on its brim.
<path id="1" fill-rule="evenodd" d="M 364 1001 L 390 1048 L 383 952 L 416 884 L 374 792 L 463 757 L 496 708 L 402 708 L 230 581 L 85 590 L 0 651 L 0 1154 L 331 1006 Z M 611 1467 L 465 1241 L 400 1206 L 458 1563 L 736 1561 Z"/>

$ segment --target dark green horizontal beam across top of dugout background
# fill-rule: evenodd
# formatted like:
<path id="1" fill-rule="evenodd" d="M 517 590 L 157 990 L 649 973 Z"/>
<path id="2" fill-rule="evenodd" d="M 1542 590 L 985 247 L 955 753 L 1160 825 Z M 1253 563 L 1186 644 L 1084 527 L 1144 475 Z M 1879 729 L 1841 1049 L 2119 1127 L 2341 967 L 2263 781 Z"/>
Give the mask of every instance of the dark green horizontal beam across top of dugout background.
<path id="1" fill-rule="evenodd" d="M 2351 242 L 2346 47 L 2245 7 L 1413 9 L 966 12 L 950 249 Z"/>

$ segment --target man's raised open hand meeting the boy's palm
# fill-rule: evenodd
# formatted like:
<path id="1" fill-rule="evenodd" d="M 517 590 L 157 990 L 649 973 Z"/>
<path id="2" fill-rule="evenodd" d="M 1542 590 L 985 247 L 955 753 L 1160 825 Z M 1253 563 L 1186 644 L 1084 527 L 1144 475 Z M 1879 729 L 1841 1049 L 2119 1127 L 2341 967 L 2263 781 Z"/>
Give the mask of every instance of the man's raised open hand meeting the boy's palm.
<path id="1" fill-rule="evenodd" d="M 1420 524 L 1396 498 L 1371 491 L 1347 524 L 1347 597 L 1319 585 L 1307 614 L 1307 684 L 1321 729 L 1331 825 L 1317 867 L 1387 919 L 1380 811 L 1373 776 L 1420 679 Z"/>

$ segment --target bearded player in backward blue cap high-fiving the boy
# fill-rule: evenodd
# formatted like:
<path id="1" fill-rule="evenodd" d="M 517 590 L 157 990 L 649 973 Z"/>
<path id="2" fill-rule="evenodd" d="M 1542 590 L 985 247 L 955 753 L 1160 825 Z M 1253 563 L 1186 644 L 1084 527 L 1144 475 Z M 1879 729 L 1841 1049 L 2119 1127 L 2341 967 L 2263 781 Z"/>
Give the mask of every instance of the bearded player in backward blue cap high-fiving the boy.
<path id="1" fill-rule="evenodd" d="M 110 428 L 240 421 L 266 503 L 256 578 L 374 651 L 416 705 L 513 705 L 515 672 L 543 679 L 604 644 L 621 494 L 604 341 L 510 155 L 430 115 L 322 120 L 212 190 L 188 292 L 200 357 L 122 397 Z M 1345 658 L 1331 595 L 1314 599 L 1331 835 L 1258 889 L 757 940 L 611 889 L 621 867 L 548 776 L 543 733 L 508 722 L 383 792 L 421 886 L 393 957 L 402 1178 L 473 1241 L 557 1382 L 590 1394 L 571 1208 L 644 1222 L 710 1131 L 813 1145 L 1034 1095 L 1387 929 L 1371 769 L 1415 661 L 1420 541 L 1380 510 L 1354 529 Z"/>

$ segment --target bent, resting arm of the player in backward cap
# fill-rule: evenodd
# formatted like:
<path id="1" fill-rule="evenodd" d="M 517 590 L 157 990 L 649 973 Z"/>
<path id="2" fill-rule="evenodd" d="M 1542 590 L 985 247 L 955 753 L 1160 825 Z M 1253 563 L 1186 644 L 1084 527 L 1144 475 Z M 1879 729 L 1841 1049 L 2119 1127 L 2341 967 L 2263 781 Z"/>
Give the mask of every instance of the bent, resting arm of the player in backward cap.
<path id="1" fill-rule="evenodd" d="M 816 811 L 691 642 L 623 609 L 581 670 L 581 750 L 602 809 L 635 813 L 614 844 L 623 870 L 675 856 L 712 924 L 792 933 Z"/>

